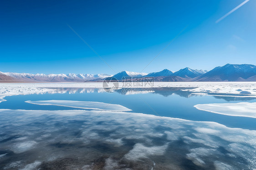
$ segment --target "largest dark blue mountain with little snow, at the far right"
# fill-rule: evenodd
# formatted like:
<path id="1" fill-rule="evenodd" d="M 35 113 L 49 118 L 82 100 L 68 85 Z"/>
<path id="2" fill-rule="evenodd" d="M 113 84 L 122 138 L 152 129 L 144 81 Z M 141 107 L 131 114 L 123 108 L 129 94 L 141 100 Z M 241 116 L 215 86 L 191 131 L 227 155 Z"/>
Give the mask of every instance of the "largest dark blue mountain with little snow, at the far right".
<path id="1" fill-rule="evenodd" d="M 215 67 L 213 70 L 196 78 L 195 81 L 246 81 L 246 79 L 254 75 L 256 75 L 256 65 L 226 64 L 222 67 Z"/>

